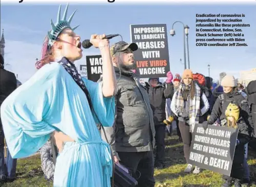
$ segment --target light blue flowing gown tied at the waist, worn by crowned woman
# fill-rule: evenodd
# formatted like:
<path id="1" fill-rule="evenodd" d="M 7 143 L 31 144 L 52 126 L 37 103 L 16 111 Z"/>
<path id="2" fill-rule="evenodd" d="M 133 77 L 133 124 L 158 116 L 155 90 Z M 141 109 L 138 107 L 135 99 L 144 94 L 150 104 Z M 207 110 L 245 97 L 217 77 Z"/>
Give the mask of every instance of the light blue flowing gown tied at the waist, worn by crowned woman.
<path id="1" fill-rule="evenodd" d="M 102 125 L 112 126 L 114 99 L 103 97 L 102 83 L 82 79 Z M 53 186 L 111 186 L 110 147 L 101 138 L 84 91 L 59 63 L 46 64 L 12 92 L 1 106 L 1 119 L 13 158 L 38 151 L 54 130 L 75 140 L 66 142 L 57 157 Z"/>

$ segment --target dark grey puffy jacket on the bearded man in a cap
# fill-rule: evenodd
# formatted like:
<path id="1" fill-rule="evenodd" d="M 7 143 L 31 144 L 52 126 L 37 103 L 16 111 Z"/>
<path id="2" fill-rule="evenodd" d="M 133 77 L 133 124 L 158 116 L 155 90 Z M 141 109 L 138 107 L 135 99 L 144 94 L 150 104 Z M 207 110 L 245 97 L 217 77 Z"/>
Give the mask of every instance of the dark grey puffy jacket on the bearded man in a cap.
<path id="1" fill-rule="evenodd" d="M 117 80 L 115 123 L 112 127 L 104 127 L 113 155 L 118 156 L 116 152 L 152 151 L 155 128 L 146 87 L 132 72 L 122 71 L 120 77 L 119 68 L 114 69 Z M 100 132 L 105 139 L 103 131 Z"/>

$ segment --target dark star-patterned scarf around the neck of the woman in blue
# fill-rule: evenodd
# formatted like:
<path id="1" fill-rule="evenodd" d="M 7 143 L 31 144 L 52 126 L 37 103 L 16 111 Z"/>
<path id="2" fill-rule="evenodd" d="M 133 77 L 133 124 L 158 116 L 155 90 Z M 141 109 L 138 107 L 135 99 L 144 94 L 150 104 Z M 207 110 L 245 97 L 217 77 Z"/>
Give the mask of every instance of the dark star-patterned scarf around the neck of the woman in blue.
<path id="1" fill-rule="evenodd" d="M 63 57 L 60 61 L 58 61 L 65 70 L 71 75 L 71 77 L 74 79 L 74 81 L 77 83 L 78 86 L 81 87 L 81 89 L 85 92 L 85 95 L 87 97 L 88 103 L 90 108 L 92 109 L 92 103 L 91 103 L 91 97 L 89 94 L 89 91 L 84 83 L 84 81 L 81 78 L 81 75 L 78 73 L 75 65 L 69 61 L 66 57 Z"/>

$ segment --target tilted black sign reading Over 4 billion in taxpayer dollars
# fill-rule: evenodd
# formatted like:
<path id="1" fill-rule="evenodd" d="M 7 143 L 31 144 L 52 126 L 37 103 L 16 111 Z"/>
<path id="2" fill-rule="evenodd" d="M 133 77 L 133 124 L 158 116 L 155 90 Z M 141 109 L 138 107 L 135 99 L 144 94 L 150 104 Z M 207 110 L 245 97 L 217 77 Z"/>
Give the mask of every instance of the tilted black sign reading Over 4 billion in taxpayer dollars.
<path id="1" fill-rule="evenodd" d="M 238 129 L 196 124 L 188 162 L 203 169 L 230 176 Z"/>

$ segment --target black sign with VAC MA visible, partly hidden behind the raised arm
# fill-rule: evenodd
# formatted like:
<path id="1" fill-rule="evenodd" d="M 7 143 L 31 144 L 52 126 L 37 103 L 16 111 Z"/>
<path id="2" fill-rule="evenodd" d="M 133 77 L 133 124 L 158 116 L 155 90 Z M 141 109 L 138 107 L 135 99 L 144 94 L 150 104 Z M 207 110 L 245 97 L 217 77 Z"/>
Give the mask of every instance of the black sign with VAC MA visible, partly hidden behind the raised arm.
<path id="1" fill-rule="evenodd" d="M 102 56 L 86 56 L 87 79 L 97 82 L 102 75 Z"/>

